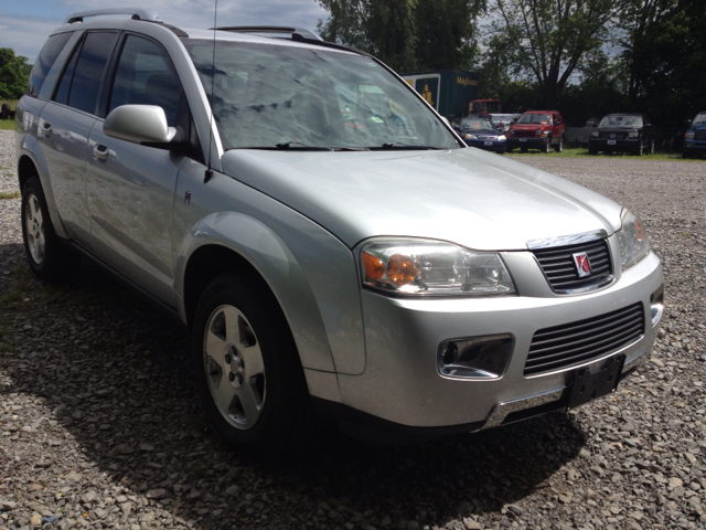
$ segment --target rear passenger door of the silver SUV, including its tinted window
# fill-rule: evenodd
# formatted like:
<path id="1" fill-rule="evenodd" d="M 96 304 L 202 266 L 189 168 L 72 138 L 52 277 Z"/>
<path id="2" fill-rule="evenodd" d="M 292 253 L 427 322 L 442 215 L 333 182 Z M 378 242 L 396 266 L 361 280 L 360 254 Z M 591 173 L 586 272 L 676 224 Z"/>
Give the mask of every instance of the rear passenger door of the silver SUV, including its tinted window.
<path id="1" fill-rule="evenodd" d="M 86 203 L 88 137 L 117 32 L 88 32 L 73 51 L 51 100 L 40 115 L 38 138 L 50 168 L 56 209 L 68 235 L 89 243 Z"/>

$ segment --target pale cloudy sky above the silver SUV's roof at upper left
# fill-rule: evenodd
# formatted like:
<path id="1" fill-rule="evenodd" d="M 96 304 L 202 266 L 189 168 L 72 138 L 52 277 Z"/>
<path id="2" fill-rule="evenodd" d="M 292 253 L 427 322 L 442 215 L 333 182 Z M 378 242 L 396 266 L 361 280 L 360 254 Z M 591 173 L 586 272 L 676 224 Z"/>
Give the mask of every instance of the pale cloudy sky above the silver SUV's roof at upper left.
<path id="1" fill-rule="evenodd" d="M 77 11 L 108 7 L 152 9 L 178 28 L 213 26 L 215 0 L 0 0 L 0 47 L 11 47 L 30 63 L 52 30 Z M 317 0 L 220 0 L 218 25 L 293 25 L 315 31 L 327 12 Z"/>

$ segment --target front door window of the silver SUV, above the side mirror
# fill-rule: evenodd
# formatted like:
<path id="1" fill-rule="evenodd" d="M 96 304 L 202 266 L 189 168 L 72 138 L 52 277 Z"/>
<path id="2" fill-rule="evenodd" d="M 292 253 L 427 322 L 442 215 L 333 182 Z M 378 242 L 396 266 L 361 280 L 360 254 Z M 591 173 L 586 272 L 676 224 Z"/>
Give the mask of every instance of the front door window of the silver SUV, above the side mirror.
<path id="1" fill-rule="evenodd" d="M 120 105 L 158 105 L 176 126 L 181 86 L 169 57 L 154 42 L 128 35 L 120 53 L 108 112 Z"/>

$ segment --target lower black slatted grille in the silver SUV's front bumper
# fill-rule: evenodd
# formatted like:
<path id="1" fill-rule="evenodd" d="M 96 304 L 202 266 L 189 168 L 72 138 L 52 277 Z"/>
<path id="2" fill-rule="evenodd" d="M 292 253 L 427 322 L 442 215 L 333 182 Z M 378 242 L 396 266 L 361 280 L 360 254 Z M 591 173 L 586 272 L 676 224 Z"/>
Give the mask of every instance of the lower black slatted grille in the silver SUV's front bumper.
<path id="1" fill-rule="evenodd" d="M 525 375 L 559 370 L 617 351 L 644 335 L 642 304 L 578 322 L 541 329 L 532 338 Z"/>

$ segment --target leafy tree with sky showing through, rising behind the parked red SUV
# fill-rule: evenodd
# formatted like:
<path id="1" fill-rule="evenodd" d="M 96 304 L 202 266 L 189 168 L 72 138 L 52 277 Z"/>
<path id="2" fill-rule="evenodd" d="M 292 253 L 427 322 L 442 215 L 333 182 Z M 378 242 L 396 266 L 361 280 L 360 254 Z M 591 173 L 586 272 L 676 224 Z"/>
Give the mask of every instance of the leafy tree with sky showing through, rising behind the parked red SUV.
<path id="1" fill-rule="evenodd" d="M 534 82 L 556 108 L 571 76 L 609 38 L 625 0 L 492 0 L 490 29 L 513 78 Z"/>

